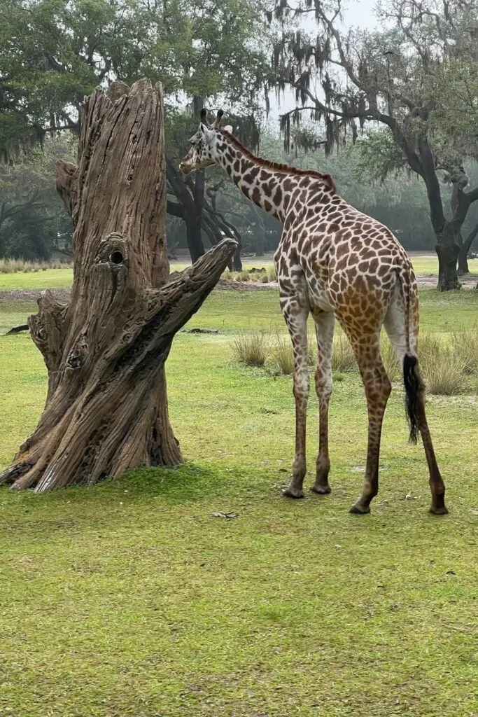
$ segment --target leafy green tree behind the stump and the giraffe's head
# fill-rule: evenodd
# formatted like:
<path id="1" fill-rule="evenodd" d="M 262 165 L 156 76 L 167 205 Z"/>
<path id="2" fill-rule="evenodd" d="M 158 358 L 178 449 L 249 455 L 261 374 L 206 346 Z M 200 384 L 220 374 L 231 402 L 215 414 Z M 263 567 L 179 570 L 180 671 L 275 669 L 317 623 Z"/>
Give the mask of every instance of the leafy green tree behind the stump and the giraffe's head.
<path id="1" fill-rule="evenodd" d="M 0 154 L 12 161 L 20 148 L 45 134 L 77 132 L 84 95 L 111 80 L 161 80 L 166 124 L 175 115 L 168 148 L 171 212 L 186 222 L 191 256 L 204 253 L 201 229 L 221 236 L 207 211 L 204 176 L 192 191 L 173 166 L 176 147 L 193 123 L 177 125 L 206 102 L 253 115 L 267 72 L 261 4 L 253 0 L 12 0 L 0 11 Z M 191 125 L 191 126 L 189 126 Z M 183 130 L 181 133 L 179 130 Z M 209 207 L 210 209 L 210 207 Z M 223 229 L 224 231 L 224 229 Z M 226 232 L 227 234 L 228 232 Z"/>

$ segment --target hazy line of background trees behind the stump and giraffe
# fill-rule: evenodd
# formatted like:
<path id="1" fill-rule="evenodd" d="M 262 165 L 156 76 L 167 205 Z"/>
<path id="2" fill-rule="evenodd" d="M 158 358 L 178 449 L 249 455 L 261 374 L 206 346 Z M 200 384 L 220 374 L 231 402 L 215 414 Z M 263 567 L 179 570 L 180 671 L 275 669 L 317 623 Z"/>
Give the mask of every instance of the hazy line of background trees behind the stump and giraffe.
<path id="1" fill-rule="evenodd" d="M 168 239 L 196 260 L 224 236 L 273 250 L 279 226 L 218 168 L 178 158 L 202 107 L 223 107 L 262 156 L 333 174 L 341 194 L 408 250 L 439 254 L 457 285 L 478 234 L 478 21 L 474 0 L 390 0 L 373 31 L 343 32 L 340 0 L 10 0 L 0 25 L 0 255 L 70 247 L 54 161 L 75 155 L 84 95 L 111 80 L 163 83 Z M 302 15 L 313 11 L 317 32 Z M 267 19 L 264 27 L 264 19 Z M 337 71 L 337 68 L 339 70 Z M 295 92 L 280 131 L 270 92 Z M 457 261 L 458 260 L 458 261 Z"/>

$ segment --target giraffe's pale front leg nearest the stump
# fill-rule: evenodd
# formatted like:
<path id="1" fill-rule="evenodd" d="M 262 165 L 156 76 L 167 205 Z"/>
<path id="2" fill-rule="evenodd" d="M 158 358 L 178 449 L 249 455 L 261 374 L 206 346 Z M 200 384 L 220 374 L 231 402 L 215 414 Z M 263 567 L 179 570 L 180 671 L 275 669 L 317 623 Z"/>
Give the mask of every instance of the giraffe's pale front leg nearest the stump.
<path id="1" fill-rule="evenodd" d="M 303 498 L 304 491 L 302 486 L 306 473 L 305 428 L 307 424 L 307 400 L 309 398 L 309 371 L 307 366 L 308 310 L 296 298 L 281 300 L 281 308 L 289 329 L 294 352 L 295 398 L 295 455 L 292 465 L 292 478 L 283 493 L 287 498 Z"/>

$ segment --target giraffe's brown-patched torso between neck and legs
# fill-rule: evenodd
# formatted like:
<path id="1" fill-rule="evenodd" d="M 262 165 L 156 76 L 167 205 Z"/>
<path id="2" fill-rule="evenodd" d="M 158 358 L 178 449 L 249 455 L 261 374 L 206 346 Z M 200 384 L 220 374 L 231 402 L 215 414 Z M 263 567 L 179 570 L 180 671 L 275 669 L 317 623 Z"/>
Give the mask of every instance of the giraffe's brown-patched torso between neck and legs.
<path id="1" fill-rule="evenodd" d="M 321 205 L 311 211 L 306 203 L 285 222 L 277 256 L 279 285 L 282 275 L 292 290 L 305 291 L 311 310 L 333 311 L 371 328 L 396 296 L 397 272 L 414 282 L 408 255 L 390 229 L 343 199 L 325 211 Z"/>

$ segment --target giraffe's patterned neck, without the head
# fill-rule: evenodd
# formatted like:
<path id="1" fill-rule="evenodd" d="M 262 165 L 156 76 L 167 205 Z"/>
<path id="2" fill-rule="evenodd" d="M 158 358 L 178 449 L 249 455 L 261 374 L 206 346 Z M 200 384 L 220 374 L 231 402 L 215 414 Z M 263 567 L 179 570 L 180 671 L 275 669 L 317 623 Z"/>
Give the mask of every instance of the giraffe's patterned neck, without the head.
<path id="1" fill-rule="evenodd" d="M 226 170 L 244 196 L 282 223 L 287 217 L 295 190 L 311 181 L 305 174 L 295 174 L 293 170 L 288 173 L 282 168 L 277 171 L 273 166 L 267 166 L 263 160 L 243 151 L 224 134 L 215 148 L 214 159 Z M 325 184 L 323 189 L 326 189 Z"/>

